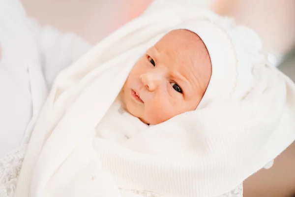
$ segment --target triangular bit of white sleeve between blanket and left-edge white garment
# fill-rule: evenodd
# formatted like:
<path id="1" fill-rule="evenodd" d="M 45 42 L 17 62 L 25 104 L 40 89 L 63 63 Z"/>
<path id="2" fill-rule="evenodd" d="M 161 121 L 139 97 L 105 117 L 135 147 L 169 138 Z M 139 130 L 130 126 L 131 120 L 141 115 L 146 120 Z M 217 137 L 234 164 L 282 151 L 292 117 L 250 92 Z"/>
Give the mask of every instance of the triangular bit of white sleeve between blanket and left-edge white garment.
<path id="1" fill-rule="evenodd" d="M 41 27 L 32 18 L 28 18 L 28 26 L 36 39 L 50 89 L 57 74 L 89 51 L 91 45 L 75 33 L 61 33 L 51 26 Z"/>

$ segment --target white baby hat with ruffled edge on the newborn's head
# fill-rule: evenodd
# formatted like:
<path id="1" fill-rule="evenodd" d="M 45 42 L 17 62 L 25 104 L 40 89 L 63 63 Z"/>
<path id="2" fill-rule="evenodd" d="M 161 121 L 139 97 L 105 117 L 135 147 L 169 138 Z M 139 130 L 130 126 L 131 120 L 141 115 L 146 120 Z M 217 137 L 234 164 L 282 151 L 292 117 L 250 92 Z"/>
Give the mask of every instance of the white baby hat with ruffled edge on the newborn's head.
<path id="1" fill-rule="evenodd" d="M 205 43 L 212 66 L 212 75 L 197 109 L 216 99 L 244 97 L 255 83 L 253 68 L 261 61 L 262 43 L 252 30 L 237 26 L 233 20 L 219 18 L 190 20 L 174 29 L 196 33 Z"/>

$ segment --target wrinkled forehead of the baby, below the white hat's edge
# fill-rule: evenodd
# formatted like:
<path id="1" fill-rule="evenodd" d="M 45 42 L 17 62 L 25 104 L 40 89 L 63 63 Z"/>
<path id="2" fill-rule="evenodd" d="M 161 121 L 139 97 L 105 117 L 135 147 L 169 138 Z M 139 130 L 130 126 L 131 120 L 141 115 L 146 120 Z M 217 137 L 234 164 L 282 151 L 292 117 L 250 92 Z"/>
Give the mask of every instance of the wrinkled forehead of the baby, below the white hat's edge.
<path id="1" fill-rule="evenodd" d="M 165 34 L 148 53 L 157 63 L 182 75 L 198 90 L 203 92 L 207 88 L 211 62 L 205 44 L 196 33 L 173 30 Z"/>

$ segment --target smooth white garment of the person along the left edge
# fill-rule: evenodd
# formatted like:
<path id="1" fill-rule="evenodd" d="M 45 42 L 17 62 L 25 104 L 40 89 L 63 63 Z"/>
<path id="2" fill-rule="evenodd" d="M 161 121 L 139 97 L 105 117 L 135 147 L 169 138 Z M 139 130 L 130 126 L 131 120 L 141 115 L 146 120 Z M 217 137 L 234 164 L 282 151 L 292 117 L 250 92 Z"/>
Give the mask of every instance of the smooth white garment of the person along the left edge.
<path id="1" fill-rule="evenodd" d="M 0 0 L 0 157 L 28 142 L 24 138 L 47 96 L 39 52 L 25 21 L 19 0 Z"/>

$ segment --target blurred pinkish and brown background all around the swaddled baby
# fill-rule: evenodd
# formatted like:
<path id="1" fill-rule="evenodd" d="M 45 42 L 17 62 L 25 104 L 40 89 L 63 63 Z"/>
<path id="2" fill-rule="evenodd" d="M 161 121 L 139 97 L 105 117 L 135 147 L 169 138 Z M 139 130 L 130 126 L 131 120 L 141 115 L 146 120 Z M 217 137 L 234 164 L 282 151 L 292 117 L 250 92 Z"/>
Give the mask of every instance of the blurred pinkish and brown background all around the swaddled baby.
<path id="1" fill-rule="evenodd" d="M 166 0 L 167 2 L 177 0 Z M 185 0 L 181 0 L 185 1 Z M 295 0 L 186 0 L 255 30 L 270 61 L 295 80 Z M 43 26 L 73 32 L 90 44 L 139 16 L 152 0 L 22 0 L 27 14 Z M 244 197 L 295 195 L 295 144 L 266 170 L 244 182 Z"/>

